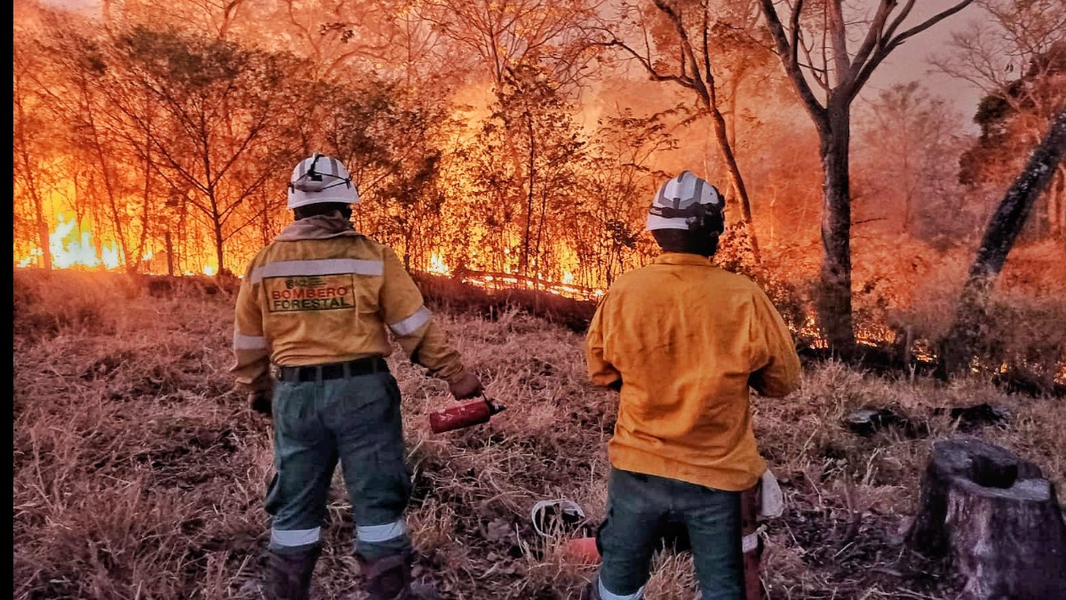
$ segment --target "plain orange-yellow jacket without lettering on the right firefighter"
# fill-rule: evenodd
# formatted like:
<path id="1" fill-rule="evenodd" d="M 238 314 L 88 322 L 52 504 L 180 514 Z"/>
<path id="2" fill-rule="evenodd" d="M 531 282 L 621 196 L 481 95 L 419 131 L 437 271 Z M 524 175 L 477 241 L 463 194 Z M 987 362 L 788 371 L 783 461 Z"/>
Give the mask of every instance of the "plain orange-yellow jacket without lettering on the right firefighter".
<path id="1" fill-rule="evenodd" d="M 722 490 L 746 490 L 766 469 L 748 386 L 785 396 L 800 384 L 792 336 L 766 295 L 696 254 L 665 253 L 619 277 L 585 359 L 594 383 L 621 383 L 611 464 Z"/>

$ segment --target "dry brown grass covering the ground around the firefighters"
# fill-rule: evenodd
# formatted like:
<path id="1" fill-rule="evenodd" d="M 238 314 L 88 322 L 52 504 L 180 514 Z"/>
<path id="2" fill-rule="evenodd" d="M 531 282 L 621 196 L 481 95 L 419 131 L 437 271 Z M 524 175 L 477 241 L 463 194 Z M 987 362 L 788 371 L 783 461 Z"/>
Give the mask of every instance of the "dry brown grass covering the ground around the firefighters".
<path id="1" fill-rule="evenodd" d="M 23 270 L 14 284 L 14 598 L 259 598 L 271 429 L 231 391 L 229 293 L 151 296 L 119 275 Z M 577 598 L 593 568 L 567 564 L 564 535 L 540 538 L 529 511 L 568 498 L 589 526 L 602 517 L 615 398 L 587 383 L 579 333 L 517 311 L 495 317 L 439 315 L 508 407 L 487 425 L 431 435 L 426 413 L 449 402 L 445 385 L 390 360 L 415 473 L 417 572 L 445 598 Z M 907 552 L 901 533 L 932 441 L 957 432 L 942 409 L 980 402 L 1011 420 L 972 433 L 1063 490 L 1061 399 L 833 362 L 807 365 L 788 398 L 756 398 L 788 501 L 769 528 L 772 598 L 953 598 L 942 566 Z M 849 432 L 841 419 L 866 405 L 912 426 Z M 329 517 L 316 594 L 362 598 L 339 479 Z M 687 556 L 660 555 L 648 597 L 694 596 Z"/>

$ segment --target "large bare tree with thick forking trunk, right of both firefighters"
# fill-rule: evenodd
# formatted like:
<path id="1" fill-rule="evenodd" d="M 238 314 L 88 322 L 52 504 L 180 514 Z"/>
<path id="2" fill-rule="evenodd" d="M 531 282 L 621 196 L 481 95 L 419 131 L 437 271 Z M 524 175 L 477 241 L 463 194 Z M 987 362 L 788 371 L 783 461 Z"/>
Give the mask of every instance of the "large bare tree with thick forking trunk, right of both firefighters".
<path id="1" fill-rule="evenodd" d="M 856 14 L 845 14 L 843 0 L 761 2 L 777 56 L 818 129 L 823 171 L 819 325 L 829 347 L 850 356 L 855 349 L 849 180 L 852 102 L 895 48 L 973 0 L 960 0 L 914 25 L 908 17 L 916 0 L 878 0 L 872 11 L 856 7 Z M 788 12 L 779 13 L 778 6 Z M 849 42 L 855 36 L 860 42 L 853 51 Z"/>

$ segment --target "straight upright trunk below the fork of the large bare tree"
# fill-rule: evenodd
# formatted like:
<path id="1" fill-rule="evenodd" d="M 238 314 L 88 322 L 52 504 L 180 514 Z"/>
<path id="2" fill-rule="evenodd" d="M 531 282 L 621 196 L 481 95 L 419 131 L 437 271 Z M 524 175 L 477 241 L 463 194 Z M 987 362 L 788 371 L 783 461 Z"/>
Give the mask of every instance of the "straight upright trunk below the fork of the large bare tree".
<path id="1" fill-rule="evenodd" d="M 817 298 L 819 323 L 829 348 L 841 357 L 855 350 L 852 320 L 852 196 L 847 176 L 851 110 L 830 104 L 827 128 L 820 129 L 822 156 L 822 271 Z"/>

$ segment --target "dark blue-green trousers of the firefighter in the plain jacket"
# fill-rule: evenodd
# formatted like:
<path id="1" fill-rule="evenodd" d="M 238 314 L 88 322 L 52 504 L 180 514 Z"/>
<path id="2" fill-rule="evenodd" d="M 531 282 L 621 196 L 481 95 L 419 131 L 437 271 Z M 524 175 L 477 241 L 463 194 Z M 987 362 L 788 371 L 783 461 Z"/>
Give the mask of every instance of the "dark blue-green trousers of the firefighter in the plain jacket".
<path id="1" fill-rule="evenodd" d="M 740 495 L 612 468 L 607 517 L 596 533 L 601 594 L 640 598 L 666 525 L 679 523 L 692 547 L 702 600 L 741 600 Z"/>

